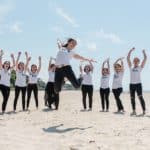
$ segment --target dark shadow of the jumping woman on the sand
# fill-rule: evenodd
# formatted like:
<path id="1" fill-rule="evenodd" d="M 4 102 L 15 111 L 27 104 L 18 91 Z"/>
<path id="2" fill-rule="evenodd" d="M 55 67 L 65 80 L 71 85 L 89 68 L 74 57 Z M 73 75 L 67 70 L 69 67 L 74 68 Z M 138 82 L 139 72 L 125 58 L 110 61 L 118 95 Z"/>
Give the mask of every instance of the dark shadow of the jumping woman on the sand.
<path id="1" fill-rule="evenodd" d="M 52 127 L 47 128 L 47 129 L 43 128 L 43 131 L 48 132 L 48 133 L 66 133 L 66 132 L 70 132 L 73 130 L 86 130 L 86 129 L 92 128 L 92 127 L 87 127 L 87 128 L 75 127 L 75 128 L 66 128 L 66 129 L 57 129 L 57 128 L 62 127 L 62 126 L 63 126 L 63 124 L 60 124 L 58 126 L 52 126 Z"/>

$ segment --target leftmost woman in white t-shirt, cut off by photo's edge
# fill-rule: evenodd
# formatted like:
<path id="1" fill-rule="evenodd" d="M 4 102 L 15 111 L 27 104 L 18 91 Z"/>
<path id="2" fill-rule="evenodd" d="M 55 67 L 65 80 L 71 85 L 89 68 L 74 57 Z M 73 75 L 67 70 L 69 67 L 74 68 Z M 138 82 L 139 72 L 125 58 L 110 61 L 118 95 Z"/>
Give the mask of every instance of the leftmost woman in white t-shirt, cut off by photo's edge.
<path id="1" fill-rule="evenodd" d="M 15 67 L 14 55 L 11 54 L 13 65 L 11 66 L 10 61 L 2 62 L 3 50 L 0 51 L 0 91 L 3 96 L 2 102 L 2 114 L 5 113 L 7 102 L 10 95 L 10 78 L 11 72 Z"/>

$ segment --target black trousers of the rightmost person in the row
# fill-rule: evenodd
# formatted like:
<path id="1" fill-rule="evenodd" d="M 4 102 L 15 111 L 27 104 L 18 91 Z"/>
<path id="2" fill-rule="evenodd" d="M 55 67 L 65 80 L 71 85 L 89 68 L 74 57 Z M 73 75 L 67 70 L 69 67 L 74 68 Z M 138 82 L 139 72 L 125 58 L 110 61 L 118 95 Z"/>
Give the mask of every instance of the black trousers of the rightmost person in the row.
<path id="1" fill-rule="evenodd" d="M 143 98 L 143 91 L 142 91 L 142 84 L 130 84 L 130 96 L 131 96 L 131 104 L 133 111 L 136 110 L 136 104 L 135 104 L 135 93 L 137 93 L 142 109 L 143 111 L 146 110 L 145 101 Z"/>

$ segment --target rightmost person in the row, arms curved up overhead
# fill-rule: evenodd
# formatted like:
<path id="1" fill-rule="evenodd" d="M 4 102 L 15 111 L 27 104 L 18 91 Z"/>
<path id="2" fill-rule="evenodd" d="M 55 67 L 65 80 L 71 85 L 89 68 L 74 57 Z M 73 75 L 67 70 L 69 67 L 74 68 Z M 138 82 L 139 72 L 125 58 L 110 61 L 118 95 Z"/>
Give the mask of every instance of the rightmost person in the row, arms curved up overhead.
<path id="1" fill-rule="evenodd" d="M 142 63 L 140 64 L 140 59 L 135 57 L 133 59 L 133 68 L 132 68 L 132 62 L 131 62 L 131 53 L 135 50 L 133 47 L 127 57 L 127 62 L 128 66 L 130 68 L 130 96 L 131 96 L 131 104 L 132 104 L 132 110 L 133 112 L 131 115 L 136 115 L 136 103 L 135 103 L 135 93 L 137 93 L 138 98 L 140 100 L 142 110 L 143 110 L 143 115 L 145 115 L 146 111 L 146 106 L 145 106 L 145 101 L 143 98 L 143 90 L 142 90 L 142 82 L 141 82 L 141 71 L 145 66 L 146 60 L 147 60 L 147 55 L 145 53 L 145 50 L 143 50 L 143 55 L 144 59 Z"/>

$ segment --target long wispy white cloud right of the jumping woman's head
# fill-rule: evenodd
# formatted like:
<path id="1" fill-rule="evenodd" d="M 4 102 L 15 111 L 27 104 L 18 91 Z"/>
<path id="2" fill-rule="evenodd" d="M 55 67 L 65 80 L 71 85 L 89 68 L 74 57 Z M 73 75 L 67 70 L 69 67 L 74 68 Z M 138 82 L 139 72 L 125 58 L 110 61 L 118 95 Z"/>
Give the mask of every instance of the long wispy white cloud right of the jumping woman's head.
<path id="1" fill-rule="evenodd" d="M 118 35 L 114 33 L 106 33 L 102 28 L 100 31 L 96 32 L 96 36 L 102 39 L 110 40 L 112 43 L 115 43 L 115 44 L 123 43 L 123 41 Z"/>

